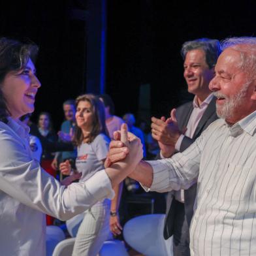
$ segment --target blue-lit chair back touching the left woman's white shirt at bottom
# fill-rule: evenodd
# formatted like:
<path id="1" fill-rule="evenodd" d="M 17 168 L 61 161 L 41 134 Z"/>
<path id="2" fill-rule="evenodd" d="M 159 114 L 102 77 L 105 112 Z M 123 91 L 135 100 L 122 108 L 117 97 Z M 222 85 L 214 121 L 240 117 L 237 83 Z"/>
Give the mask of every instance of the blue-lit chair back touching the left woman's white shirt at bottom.
<path id="1" fill-rule="evenodd" d="M 65 234 L 57 226 L 46 226 L 46 255 L 52 256 L 54 248 L 65 239 Z"/>

